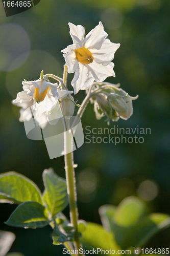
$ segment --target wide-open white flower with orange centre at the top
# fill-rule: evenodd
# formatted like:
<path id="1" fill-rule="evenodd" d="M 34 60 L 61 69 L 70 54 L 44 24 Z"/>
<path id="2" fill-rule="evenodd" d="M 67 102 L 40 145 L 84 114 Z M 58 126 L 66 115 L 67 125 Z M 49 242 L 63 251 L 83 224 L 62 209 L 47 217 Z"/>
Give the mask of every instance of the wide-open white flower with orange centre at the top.
<path id="1" fill-rule="evenodd" d="M 106 39 L 108 34 L 101 22 L 86 36 L 83 26 L 68 25 L 73 44 L 61 52 L 64 52 L 68 73 L 75 72 L 71 84 L 76 94 L 79 90 L 86 90 L 94 80 L 102 82 L 108 76 L 115 76 L 111 60 L 120 44 Z"/>

